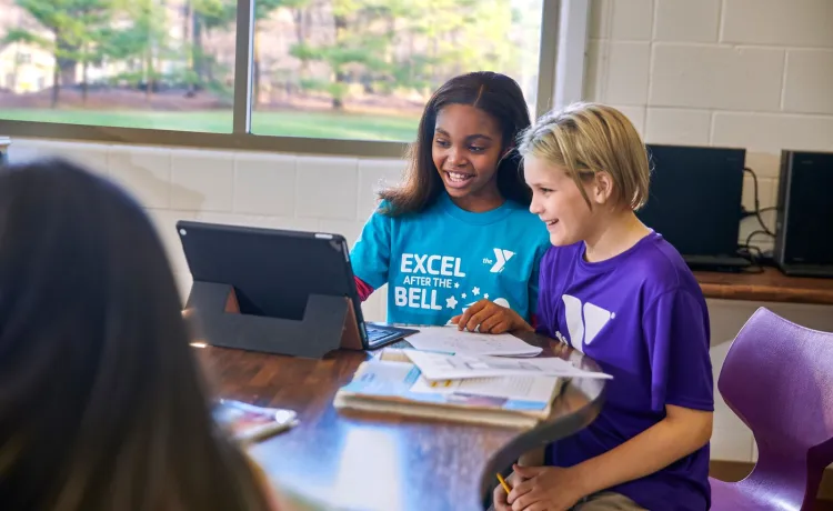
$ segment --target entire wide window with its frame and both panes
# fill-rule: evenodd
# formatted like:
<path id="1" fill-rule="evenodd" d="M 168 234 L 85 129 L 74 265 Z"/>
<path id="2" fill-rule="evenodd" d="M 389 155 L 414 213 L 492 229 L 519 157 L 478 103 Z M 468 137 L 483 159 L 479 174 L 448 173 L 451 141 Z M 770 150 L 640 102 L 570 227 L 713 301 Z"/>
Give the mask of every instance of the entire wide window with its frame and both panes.
<path id="1" fill-rule="evenodd" d="M 2 134 L 401 156 L 455 74 L 552 104 L 562 3 L 0 0 Z"/>

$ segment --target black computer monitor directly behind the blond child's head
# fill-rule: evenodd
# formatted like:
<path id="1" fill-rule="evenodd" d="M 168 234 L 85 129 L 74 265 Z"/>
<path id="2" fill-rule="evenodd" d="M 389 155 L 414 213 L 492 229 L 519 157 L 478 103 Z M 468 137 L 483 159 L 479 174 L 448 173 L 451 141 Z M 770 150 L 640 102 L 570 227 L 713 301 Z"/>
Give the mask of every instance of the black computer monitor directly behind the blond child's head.
<path id="1" fill-rule="evenodd" d="M 745 149 L 648 144 L 648 203 L 636 212 L 692 268 L 742 268 L 737 255 Z"/>

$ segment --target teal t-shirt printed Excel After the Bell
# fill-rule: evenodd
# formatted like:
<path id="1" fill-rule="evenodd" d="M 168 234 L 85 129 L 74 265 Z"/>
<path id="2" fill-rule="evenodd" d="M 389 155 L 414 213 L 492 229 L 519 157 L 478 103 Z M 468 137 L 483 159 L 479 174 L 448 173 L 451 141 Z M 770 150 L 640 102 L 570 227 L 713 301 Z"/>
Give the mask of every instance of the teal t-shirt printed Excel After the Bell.
<path id="1" fill-rule="evenodd" d="M 505 201 L 472 213 L 443 192 L 420 213 L 374 212 L 350 259 L 373 289 L 388 284 L 388 322 L 446 324 L 481 299 L 530 321 L 549 248 L 545 226 L 526 207 Z"/>

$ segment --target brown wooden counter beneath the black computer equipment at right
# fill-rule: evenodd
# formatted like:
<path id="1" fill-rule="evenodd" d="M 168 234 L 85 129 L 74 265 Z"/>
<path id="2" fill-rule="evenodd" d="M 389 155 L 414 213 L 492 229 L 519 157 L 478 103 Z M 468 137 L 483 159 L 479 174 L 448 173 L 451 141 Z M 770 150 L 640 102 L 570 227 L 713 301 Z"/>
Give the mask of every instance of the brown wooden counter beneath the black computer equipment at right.
<path id="1" fill-rule="evenodd" d="M 695 271 L 705 298 L 833 305 L 833 279 L 787 277 L 776 268 L 762 273 Z"/>

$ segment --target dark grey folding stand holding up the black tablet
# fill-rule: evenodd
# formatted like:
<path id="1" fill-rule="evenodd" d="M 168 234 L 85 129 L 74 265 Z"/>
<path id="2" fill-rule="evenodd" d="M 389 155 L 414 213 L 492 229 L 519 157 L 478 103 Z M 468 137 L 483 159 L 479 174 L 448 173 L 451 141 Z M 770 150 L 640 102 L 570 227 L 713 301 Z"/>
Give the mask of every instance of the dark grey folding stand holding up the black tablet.
<path id="1" fill-rule="evenodd" d="M 242 314 L 232 285 L 194 281 L 185 309 L 200 340 L 212 345 L 312 359 L 339 348 L 363 349 L 347 297 L 310 294 L 298 321 Z"/>

